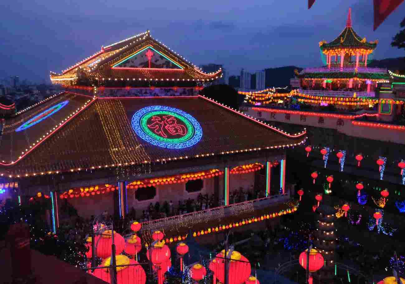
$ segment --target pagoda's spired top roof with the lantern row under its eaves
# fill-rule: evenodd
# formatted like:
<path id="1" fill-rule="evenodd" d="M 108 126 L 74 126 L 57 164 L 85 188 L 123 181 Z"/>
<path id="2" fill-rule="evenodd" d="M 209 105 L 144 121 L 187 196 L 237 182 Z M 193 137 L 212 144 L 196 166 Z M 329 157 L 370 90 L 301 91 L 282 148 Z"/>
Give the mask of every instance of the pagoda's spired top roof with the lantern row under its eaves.
<path id="1" fill-rule="evenodd" d="M 349 9 L 346 27 L 336 39 L 330 42 L 321 41 L 319 43 L 320 49 L 324 54 L 339 54 L 341 50 L 351 52 L 352 54 L 355 54 L 356 51 L 360 51 L 364 54 L 370 54 L 377 47 L 378 41 L 367 42 L 365 37 L 361 38 L 354 31 L 352 28 L 351 14 L 351 9 Z"/>

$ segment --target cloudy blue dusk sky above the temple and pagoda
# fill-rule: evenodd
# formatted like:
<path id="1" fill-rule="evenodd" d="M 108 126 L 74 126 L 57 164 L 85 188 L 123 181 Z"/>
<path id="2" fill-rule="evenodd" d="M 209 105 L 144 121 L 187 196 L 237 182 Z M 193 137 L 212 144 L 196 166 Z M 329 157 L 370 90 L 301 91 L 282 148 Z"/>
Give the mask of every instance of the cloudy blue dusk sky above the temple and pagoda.
<path id="1" fill-rule="evenodd" d="M 0 78 L 19 75 L 49 81 L 109 45 L 149 29 L 196 65 L 241 68 L 322 65 L 318 42 L 335 39 L 352 8 L 352 26 L 367 41 L 379 40 L 374 58 L 405 56 L 390 46 L 405 16 L 401 4 L 373 32 L 373 1 L 129 1 L 11 0 L 0 4 Z"/>

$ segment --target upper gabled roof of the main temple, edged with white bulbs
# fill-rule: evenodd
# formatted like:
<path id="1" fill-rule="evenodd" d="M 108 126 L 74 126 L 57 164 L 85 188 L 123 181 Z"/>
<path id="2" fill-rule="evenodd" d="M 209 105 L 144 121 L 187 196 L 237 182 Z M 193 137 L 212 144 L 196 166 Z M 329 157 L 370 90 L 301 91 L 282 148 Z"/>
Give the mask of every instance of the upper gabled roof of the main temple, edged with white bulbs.
<path id="1" fill-rule="evenodd" d="M 153 39 L 149 31 L 101 50 L 57 74 L 53 84 L 103 86 L 107 81 L 208 82 L 222 76 L 221 69 L 204 73 L 194 64 Z"/>

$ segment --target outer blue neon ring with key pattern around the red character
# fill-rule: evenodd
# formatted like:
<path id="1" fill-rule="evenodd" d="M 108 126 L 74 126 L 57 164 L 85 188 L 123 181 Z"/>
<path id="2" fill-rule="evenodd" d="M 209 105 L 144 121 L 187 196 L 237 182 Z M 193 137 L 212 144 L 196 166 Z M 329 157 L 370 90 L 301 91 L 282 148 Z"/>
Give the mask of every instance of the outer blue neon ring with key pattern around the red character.
<path id="1" fill-rule="evenodd" d="M 155 111 L 155 110 L 171 111 L 171 112 L 175 112 L 175 113 L 180 114 L 181 116 L 185 117 L 188 121 L 190 121 L 190 123 L 194 127 L 194 136 L 192 138 L 190 138 L 189 140 L 182 142 L 182 143 L 166 143 L 166 142 L 161 142 L 161 141 L 156 140 L 155 138 L 150 137 L 149 135 L 147 135 L 145 133 L 145 131 L 143 131 L 140 122 L 141 122 L 141 118 L 145 114 L 147 114 L 148 112 Z M 145 140 L 146 142 L 149 142 L 152 145 L 159 146 L 162 148 L 169 148 L 169 149 L 188 148 L 188 147 L 191 147 L 191 146 L 197 144 L 201 140 L 201 137 L 203 136 L 203 129 L 201 128 L 200 123 L 198 123 L 198 121 L 193 116 L 191 116 L 187 112 L 183 112 L 182 110 L 179 110 L 178 108 L 172 108 L 172 107 L 165 106 L 165 105 L 152 105 L 152 106 L 148 106 L 145 108 L 141 108 L 140 110 L 135 112 L 135 114 L 132 116 L 131 125 L 132 125 L 132 129 L 134 129 L 135 133 L 139 137 L 141 137 L 143 140 Z"/>

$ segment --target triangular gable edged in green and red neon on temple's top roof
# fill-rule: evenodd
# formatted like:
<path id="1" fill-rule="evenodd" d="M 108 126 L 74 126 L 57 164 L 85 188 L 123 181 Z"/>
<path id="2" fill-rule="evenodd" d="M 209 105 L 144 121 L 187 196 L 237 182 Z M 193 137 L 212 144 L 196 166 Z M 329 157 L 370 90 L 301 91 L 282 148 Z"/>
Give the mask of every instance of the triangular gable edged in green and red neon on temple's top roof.
<path id="1" fill-rule="evenodd" d="M 147 45 L 111 65 L 113 69 L 177 69 L 184 67 L 166 54 L 159 52 L 152 45 Z"/>

